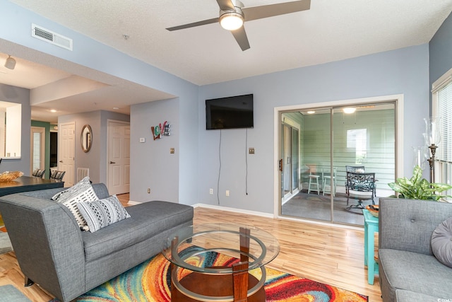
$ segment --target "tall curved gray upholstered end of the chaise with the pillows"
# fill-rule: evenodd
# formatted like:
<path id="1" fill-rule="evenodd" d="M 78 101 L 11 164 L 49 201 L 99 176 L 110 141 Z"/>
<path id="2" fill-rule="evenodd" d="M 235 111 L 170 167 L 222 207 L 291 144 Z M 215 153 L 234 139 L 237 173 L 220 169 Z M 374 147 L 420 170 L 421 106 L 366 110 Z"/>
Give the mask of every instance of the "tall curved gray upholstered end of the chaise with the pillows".
<path id="1" fill-rule="evenodd" d="M 62 301 L 85 291 L 81 231 L 69 209 L 47 199 L 0 197 L 0 212 L 20 269 Z"/>

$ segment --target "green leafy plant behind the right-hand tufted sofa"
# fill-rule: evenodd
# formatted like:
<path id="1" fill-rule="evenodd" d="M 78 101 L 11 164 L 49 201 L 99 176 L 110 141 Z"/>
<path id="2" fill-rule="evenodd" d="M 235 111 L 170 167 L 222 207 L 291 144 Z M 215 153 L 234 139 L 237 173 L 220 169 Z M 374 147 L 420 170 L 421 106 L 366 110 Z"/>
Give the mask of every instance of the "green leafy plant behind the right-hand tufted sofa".
<path id="1" fill-rule="evenodd" d="M 419 165 L 415 166 L 412 172 L 412 178 L 397 178 L 396 182 L 390 182 L 388 186 L 399 193 L 399 198 L 440 201 L 441 198 L 452 197 L 450 195 L 439 194 L 451 190 L 451 185 L 428 182 L 425 178 L 422 178 L 422 169 Z M 396 196 L 393 195 L 391 197 Z"/>

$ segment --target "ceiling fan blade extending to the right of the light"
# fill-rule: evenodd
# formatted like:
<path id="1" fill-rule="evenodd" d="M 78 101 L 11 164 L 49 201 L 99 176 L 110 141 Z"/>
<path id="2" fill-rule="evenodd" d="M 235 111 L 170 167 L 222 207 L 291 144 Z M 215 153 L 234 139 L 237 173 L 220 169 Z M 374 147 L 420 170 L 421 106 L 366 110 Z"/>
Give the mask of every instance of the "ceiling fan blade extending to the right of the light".
<path id="1" fill-rule="evenodd" d="M 245 21 L 251 21 L 261 18 L 284 15 L 285 13 L 306 11 L 309 8 L 311 8 L 311 0 L 300 0 L 278 4 L 268 4 L 263 6 L 244 7 L 242 8 L 242 11 L 245 16 Z"/>

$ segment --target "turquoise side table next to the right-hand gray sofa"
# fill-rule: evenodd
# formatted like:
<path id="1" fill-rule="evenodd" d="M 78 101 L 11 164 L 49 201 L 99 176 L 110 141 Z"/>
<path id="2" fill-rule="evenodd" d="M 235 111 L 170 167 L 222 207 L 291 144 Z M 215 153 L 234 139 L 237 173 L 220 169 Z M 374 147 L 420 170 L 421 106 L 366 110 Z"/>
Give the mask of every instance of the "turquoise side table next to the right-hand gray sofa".
<path id="1" fill-rule="evenodd" d="M 379 274 L 379 264 L 374 258 L 374 234 L 379 232 L 379 219 L 372 216 L 367 209 L 364 214 L 364 266 L 367 266 L 367 283 L 374 284 L 375 274 Z"/>

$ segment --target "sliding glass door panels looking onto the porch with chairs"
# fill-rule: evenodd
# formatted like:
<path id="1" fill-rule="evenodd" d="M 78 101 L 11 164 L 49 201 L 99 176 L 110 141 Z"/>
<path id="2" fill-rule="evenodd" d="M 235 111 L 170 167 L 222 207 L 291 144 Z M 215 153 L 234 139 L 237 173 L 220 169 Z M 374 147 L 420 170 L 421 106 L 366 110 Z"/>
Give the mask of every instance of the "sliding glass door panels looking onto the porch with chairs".
<path id="1" fill-rule="evenodd" d="M 297 175 L 287 120 L 299 124 Z M 394 102 L 303 108 L 282 112 L 281 121 L 283 216 L 362 225 L 362 207 L 393 193 L 388 182 L 396 175 Z M 347 190 L 347 166 L 373 174 L 374 192 Z"/>

